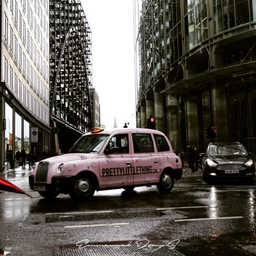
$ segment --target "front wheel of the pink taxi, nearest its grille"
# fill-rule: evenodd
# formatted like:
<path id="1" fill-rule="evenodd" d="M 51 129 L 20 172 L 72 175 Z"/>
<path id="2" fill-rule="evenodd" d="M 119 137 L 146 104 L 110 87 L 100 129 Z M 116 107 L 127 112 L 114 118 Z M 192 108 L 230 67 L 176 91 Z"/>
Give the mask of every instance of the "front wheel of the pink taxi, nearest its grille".
<path id="1" fill-rule="evenodd" d="M 69 196 L 75 200 L 86 200 L 93 196 L 95 182 L 91 175 L 83 174 L 74 179 L 71 185 Z"/>

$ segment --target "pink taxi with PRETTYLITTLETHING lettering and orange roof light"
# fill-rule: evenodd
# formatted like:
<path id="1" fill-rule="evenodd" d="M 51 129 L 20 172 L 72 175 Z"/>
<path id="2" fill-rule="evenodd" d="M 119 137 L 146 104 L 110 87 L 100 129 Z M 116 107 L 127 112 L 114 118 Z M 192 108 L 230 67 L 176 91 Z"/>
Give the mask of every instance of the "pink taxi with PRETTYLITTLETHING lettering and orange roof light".
<path id="1" fill-rule="evenodd" d="M 149 185 L 169 192 L 181 176 L 181 160 L 164 133 L 94 128 L 79 138 L 68 154 L 35 163 L 29 186 L 45 198 L 63 193 L 87 199 L 95 190 Z"/>

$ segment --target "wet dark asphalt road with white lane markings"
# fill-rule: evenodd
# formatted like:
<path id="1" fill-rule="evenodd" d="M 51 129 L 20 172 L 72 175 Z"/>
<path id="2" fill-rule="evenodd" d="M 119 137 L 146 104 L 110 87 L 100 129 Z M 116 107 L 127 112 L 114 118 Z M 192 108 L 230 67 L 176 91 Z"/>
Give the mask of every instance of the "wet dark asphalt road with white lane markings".
<path id="1" fill-rule="evenodd" d="M 81 203 L 47 201 L 28 175 L 1 173 L 32 198 L 0 191 L 0 255 L 256 255 L 255 182 L 206 185 L 186 168 L 171 193 L 106 190 Z"/>

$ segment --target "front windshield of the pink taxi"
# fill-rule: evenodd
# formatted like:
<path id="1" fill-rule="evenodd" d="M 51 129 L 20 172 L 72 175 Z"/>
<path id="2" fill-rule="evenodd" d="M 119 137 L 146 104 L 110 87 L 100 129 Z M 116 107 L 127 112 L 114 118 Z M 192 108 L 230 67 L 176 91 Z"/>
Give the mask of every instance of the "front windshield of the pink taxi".
<path id="1" fill-rule="evenodd" d="M 109 134 L 91 134 L 82 136 L 68 153 L 99 153 Z"/>

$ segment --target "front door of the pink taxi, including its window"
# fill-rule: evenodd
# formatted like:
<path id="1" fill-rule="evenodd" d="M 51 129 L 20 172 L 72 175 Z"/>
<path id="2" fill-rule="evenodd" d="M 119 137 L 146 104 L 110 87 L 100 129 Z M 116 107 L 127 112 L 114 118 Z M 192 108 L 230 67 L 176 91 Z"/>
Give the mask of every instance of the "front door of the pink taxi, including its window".
<path id="1" fill-rule="evenodd" d="M 128 133 L 113 135 L 99 160 L 100 188 L 133 185 L 133 164 Z"/>

